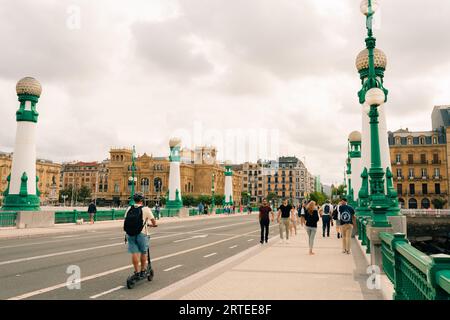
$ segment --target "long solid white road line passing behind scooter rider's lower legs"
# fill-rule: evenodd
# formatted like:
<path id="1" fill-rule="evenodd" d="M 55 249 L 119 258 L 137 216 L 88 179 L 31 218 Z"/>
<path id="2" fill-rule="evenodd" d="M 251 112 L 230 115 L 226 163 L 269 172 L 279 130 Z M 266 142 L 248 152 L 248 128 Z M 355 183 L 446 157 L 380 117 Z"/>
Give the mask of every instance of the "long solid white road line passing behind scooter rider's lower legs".
<path id="1" fill-rule="evenodd" d="M 244 234 L 244 235 L 246 235 L 246 234 Z M 219 241 L 216 241 L 216 242 L 211 242 L 211 243 L 208 243 L 208 244 L 205 244 L 205 245 L 202 245 L 202 246 L 194 247 L 194 248 L 191 248 L 191 249 L 187 249 L 187 250 L 183 250 L 183 251 L 179 251 L 179 252 L 174 252 L 174 253 L 171 253 L 171 254 L 168 254 L 168 255 L 165 255 L 165 256 L 154 258 L 154 259 L 152 259 L 152 261 L 163 260 L 163 259 L 171 258 L 171 257 L 174 257 L 174 256 L 178 256 L 178 255 L 181 255 L 181 254 L 184 254 L 184 253 L 200 250 L 200 249 L 207 248 L 207 247 L 210 247 L 210 246 L 214 246 L 216 244 L 219 244 L 219 243 L 222 243 L 222 242 L 225 242 L 225 241 L 229 241 L 229 240 L 233 240 L 233 239 L 236 239 L 236 238 L 239 238 L 239 237 L 241 237 L 241 236 L 234 236 L 234 237 L 222 239 L 222 240 L 219 240 Z M 93 275 L 90 275 L 88 277 L 81 278 L 78 281 L 78 283 L 81 283 L 83 281 L 96 279 L 96 278 L 100 278 L 100 277 L 107 276 L 109 274 L 116 273 L 116 272 L 123 271 L 123 270 L 127 270 L 127 269 L 128 270 L 131 269 L 131 266 L 130 265 L 126 265 L 126 266 L 123 266 L 123 267 L 120 267 L 120 268 L 116 268 L 116 269 L 108 270 L 108 271 L 105 271 L 105 272 L 93 274 Z M 48 287 L 48 288 L 43 288 L 43 289 L 39 289 L 39 290 L 28 292 L 28 293 L 24 293 L 22 295 L 19 295 L 19 296 L 16 296 L 16 297 L 12 297 L 12 298 L 9 298 L 7 300 L 23 300 L 23 299 L 27 299 L 27 298 L 30 298 L 30 297 L 33 297 L 33 296 L 36 296 L 36 295 L 39 295 L 39 294 L 42 294 L 42 293 L 46 293 L 46 292 L 50 292 L 50 291 L 53 291 L 53 290 L 56 290 L 56 289 L 64 288 L 66 285 L 67 284 L 65 282 L 64 283 L 60 283 L 60 284 L 57 284 L 57 285 L 54 285 L 54 286 L 51 286 L 51 287 Z"/>

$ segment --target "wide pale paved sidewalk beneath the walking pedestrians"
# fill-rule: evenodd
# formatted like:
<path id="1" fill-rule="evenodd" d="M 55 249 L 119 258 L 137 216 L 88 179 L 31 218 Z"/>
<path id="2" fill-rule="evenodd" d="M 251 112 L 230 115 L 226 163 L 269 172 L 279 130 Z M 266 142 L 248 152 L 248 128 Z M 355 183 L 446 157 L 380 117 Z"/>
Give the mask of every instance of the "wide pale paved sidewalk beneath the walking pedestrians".
<path id="1" fill-rule="evenodd" d="M 319 225 L 319 229 L 321 226 Z M 275 227 L 278 231 L 278 227 Z M 352 239 L 351 255 L 341 240 L 316 235 L 315 255 L 308 254 L 305 229 L 289 244 L 279 236 L 250 248 L 144 299 L 192 300 L 373 300 L 380 290 L 366 286 L 367 262 Z"/>

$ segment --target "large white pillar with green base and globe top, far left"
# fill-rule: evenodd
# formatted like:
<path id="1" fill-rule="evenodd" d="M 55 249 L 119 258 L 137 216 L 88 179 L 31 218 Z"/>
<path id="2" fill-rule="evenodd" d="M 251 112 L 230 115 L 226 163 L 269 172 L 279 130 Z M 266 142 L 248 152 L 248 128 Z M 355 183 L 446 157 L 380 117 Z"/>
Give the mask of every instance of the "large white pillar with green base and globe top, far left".
<path id="1" fill-rule="evenodd" d="M 36 104 L 41 96 L 41 84 L 25 77 L 16 85 L 20 101 L 16 112 L 17 130 L 11 174 L 2 210 L 39 211 L 40 199 L 36 176 Z"/>

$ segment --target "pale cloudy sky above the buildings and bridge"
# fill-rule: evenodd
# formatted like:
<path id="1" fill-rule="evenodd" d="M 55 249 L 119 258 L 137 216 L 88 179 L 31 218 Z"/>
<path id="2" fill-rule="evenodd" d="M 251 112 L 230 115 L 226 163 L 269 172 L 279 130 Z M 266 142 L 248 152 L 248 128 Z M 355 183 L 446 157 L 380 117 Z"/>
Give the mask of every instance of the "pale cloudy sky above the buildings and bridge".
<path id="1" fill-rule="evenodd" d="M 450 2 L 381 0 L 388 128 L 429 130 L 450 104 Z M 37 152 L 103 160 L 214 144 L 235 162 L 296 155 L 342 181 L 360 130 L 359 0 L 0 0 L 0 150 L 15 139 L 15 84 L 43 86 Z M 425 7 L 428 5 L 427 7 Z"/>

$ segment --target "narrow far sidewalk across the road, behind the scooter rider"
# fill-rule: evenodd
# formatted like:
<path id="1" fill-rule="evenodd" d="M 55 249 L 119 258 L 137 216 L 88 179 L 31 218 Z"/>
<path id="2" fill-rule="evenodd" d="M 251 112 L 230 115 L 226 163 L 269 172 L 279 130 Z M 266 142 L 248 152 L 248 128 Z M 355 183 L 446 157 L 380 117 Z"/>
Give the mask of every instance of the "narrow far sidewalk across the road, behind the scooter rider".
<path id="1" fill-rule="evenodd" d="M 252 213 L 252 215 L 257 213 Z M 228 217 L 245 216 L 246 214 L 218 214 L 218 215 L 200 215 L 191 216 L 186 218 L 179 217 L 163 217 L 156 220 L 157 224 L 174 223 L 180 221 L 193 221 L 193 220 L 203 220 L 203 219 L 226 219 Z M 0 228 L 0 240 L 2 239 L 19 239 L 28 237 L 39 237 L 46 235 L 59 235 L 67 234 L 73 232 L 89 232 L 89 231 L 99 231 L 111 228 L 118 228 L 123 226 L 123 220 L 115 221 L 98 221 L 94 224 L 84 223 L 82 225 L 77 225 L 74 223 L 61 223 L 55 224 L 53 227 L 48 228 L 27 228 L 27 229 L 17 229 L 16 227 Z"/>

